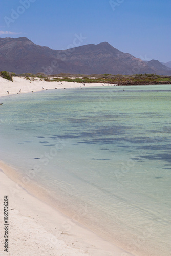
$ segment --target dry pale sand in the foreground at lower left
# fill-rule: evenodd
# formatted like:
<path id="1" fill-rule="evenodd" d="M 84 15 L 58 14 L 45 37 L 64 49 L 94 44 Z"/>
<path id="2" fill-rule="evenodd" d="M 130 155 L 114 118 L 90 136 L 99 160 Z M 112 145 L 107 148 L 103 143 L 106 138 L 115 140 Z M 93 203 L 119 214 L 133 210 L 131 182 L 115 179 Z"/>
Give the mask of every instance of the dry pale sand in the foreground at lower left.
<path id="1" fill-rule="evenodd" d="M 25 189 L 19 189 L 18 193 L 17 183 L 10 179 L 13 169 L 3 162 L 0 162 L 0 169 L 1 230 L 4 227 L 4 196 L 8 196 L 9 201 L 9 249 L 8 253 L 4 251 L 5 238 L 1 232 L 0 255 L 131 255 L 79 223 L 73 223 L 68 216 Z M 67 232 L 63 225 L 66 221 L 73 223 Z"/>

